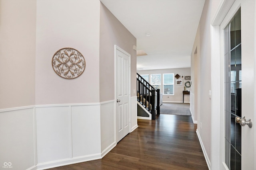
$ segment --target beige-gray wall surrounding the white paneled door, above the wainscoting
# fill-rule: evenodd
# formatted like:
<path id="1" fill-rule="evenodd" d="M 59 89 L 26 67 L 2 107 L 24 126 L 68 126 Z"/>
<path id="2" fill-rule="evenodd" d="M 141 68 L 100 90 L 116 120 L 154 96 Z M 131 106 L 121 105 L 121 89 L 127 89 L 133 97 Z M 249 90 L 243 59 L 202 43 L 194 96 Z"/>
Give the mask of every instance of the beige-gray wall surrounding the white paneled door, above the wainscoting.
<path id="1" fill-rule="evenodd" d="M 136 38 L 100 3 L 100 102 L 115 98 L 114 45 L 131 55 L 131 96 L 136 96 Z"/>

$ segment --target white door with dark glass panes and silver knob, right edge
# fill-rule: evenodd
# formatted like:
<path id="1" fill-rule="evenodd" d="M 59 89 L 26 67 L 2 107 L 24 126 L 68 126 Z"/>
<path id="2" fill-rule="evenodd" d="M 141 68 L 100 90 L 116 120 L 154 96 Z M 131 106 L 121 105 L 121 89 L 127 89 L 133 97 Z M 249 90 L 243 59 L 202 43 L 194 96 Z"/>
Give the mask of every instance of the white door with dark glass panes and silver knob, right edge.
<path id="1" fill-rule="evenodd" d="M 220 169 L 256 168 L 255 125 L 250 127 L 248 121 L 255 119 L 254 29 L 255 1 L 236 0 L 220 25 L 220 60 L 224 66 L 221 73 L 224 102 L 221 106 L 223 120 L 220 121 L 224 133 L 221 132 L 220 139 L 223 146 Z M 236 123 L 236 117 L 242 119 L 244 116 L 244 121 Z"/>

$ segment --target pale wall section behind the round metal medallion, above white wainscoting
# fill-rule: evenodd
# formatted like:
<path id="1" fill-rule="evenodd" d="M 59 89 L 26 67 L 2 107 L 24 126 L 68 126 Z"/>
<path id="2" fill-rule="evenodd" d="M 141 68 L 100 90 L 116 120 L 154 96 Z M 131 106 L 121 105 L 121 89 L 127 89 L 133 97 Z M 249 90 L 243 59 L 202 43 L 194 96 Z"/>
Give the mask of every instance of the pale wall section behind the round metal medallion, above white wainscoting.
<path id="1" fill-rule="evenodd" d="M 56 6 L 76 12 L 60 12 Z M 100 2 L 38 0 L 36 10 L 36 104 L 99 102 Z M 52 69 L 52 56 L 64 47 L 85 58 L 78 78 L 64 79 Z"/>

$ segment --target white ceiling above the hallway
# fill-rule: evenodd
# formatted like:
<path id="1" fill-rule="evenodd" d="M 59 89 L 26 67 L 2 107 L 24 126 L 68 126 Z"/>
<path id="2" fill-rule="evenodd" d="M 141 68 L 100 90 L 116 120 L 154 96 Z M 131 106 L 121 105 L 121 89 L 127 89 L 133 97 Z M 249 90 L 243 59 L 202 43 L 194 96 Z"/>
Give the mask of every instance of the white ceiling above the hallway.
<path id="1" fill-rule="evenodd" d="M 136 37 L 137 70 L 190 67 L 205 0 L 100 0 Z M 150 36 L 146 36 L 150 33 Z"/>

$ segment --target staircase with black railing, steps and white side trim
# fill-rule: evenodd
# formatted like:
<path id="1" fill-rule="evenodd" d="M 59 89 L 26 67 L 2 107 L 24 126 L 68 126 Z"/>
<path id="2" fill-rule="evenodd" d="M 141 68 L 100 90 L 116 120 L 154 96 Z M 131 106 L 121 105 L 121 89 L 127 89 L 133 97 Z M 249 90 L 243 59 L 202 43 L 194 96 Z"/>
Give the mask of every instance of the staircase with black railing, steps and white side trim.
<path id="1" fill-rule="evenodd" d="M 138 117 L 156 119 L 160 114 L 160 89 L 155 89 L 137 73 Z M 147 119 L 147 118 L 145 118 Z"/>

